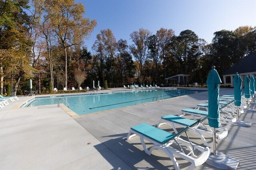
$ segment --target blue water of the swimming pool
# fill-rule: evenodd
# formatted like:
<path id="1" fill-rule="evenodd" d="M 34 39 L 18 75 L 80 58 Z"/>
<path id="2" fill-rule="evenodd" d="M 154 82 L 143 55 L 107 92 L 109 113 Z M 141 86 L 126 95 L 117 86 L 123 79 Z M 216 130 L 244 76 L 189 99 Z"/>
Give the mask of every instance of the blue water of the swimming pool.
<path id="1" fill-rule="evenodd" d="M 25 107 L 34 107 L 41 105 L 57 104 L 58 99 L 62 98 L 70 104 L 70 109 L 78 115 L 84 115 L 93 112 L 116 109 L 140 103 L 158 101 L 159 99 L 168 99 L 200 91 L 172 89 L 172 90 L 136 90 L 127 92 L 101 93 L 91 95 L 67 95 L 36 97 L 36 100 L 28 103 Z M 159 96 L 159 97 L 158 97 Z M 60 103 L 63 103 L 60 102 Z"/>

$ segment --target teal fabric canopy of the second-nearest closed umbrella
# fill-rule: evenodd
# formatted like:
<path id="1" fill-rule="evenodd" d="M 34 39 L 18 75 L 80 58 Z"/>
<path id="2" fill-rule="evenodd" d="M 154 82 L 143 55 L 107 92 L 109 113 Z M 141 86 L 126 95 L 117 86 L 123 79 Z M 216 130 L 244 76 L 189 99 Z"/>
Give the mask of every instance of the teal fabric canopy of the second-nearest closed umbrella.
<path id="1" fill-rule="evenodd" d="M 242 96 L 242 78 L 238 73 L 234 76 L 234 98 L 235 105 L 241 106 L 241 96 Z"/>

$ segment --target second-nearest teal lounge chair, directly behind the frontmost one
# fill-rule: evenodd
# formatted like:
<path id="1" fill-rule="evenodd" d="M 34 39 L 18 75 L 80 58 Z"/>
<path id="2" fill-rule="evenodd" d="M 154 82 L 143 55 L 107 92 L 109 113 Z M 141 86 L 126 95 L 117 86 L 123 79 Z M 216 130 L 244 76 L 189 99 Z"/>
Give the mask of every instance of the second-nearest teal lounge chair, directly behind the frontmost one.
<path id="1" fill-rule="evenodd" d="M 164 125 L 164 124 L 168 124 L 173 128 L 176 134 L 178 134 L 177 128 L 189 127 L 188 130 L 198 135 L 201 138 L 204 146 L 212 147 L 212 142 L 207 142 L 206 138 L 204 137 L 204 136 L 206 136 L 207 138 L 212 137 L 212 130 L 206 128 L 203 124 L 203 121 L 205 119 L 207 119 L 207 117 L 203 117 L 199 121 L 194 121 L 191 119 L 186 119 L 186 118 L 178 117 L 175 115 L 167 115 L 167 116 L 161 117 L 157 127 L 160 127 L 161 125 Z M 198 127 L 200 127 L 200 129 Z M 219 128 L 218 132 L 216 133 L 217 140 L 225 138 L 227 135 L 228 135 L 227 129 Z"/>

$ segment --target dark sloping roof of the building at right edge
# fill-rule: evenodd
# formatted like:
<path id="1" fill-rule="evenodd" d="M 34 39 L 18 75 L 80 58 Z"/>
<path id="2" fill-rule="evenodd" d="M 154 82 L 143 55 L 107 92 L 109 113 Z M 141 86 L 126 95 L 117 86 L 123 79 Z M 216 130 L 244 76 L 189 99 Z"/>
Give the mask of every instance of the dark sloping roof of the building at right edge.
<path id="1" fill-rule="evenodd" d="M 238 63 L 230 67 L 223 75 L 240 73 L 250 73 L 256 71 L 256 53 L 247 55 L 240 59 Z"/>

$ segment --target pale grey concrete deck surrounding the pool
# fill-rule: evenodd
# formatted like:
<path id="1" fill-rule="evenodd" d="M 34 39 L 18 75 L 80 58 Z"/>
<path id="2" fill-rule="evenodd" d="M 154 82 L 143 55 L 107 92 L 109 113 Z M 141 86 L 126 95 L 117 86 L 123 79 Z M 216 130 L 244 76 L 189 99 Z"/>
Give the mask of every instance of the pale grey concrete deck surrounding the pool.
<path id="1" fill-rule="evenodd" d="M 122 89 L 112 89 L 118 90 Z M 221 88 L 220 95 L 231 91 Z M 77 118 L 56 105 L 17 108 L 30 98 L 19 97 L 0 108 L 0 169 L 174 169 L 162 151 L 149 156 L 137 136 L 126 140 L 130 127 L 156 125 L 161 116 L 177 115 L 181 109 L 204 103 L 208 94 L 194 93 Z M 256 104 L 249 107 L 256 109 Z M 231 125 L 217 150 L 240 160 L 238 169 L 255 169 L 256 112 L 244 111 L 239 119 L 251 122 L 252 127 Z M 202 143 L 194 136 L 191 140 Z M 181 161 L 180 166 L 186 169 L 188 164 Z M 214 168 L 203 164 L 196 169 Z"/>

